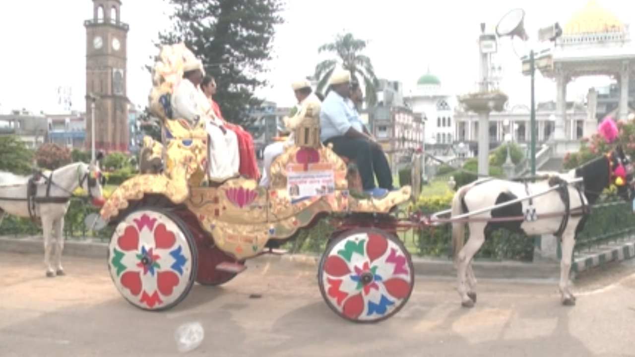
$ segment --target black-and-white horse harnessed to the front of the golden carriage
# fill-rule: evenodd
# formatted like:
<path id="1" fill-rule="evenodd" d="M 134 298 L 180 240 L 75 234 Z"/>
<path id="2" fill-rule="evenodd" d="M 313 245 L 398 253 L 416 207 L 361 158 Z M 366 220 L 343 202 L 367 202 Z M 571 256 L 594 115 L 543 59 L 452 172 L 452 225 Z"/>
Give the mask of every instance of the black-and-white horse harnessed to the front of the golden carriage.
<path id="1" fill-rule="evenodd" d="M 621 147 L 617 147 L 606 156 L 594 159 L 567 175 L 558 175 L 550 180 L 525 185 L 522 182 L 486 179 L 461 187 L 452 200 L 452 217 L 521 199 L 511 205 L 485 210 L 483 213 L 452 223 L 458 294 L 462 306 L 472 307 L 476 303 L 476 278 L 472 271 L 472 258 L 485 242 L 485 238 L 499 228 L 524 232 L 527 235 L 554 234 L 561 237 L 559 290 L 564 305 L 575 305 L 575 296 L 569 288 L 569 273 L 575 236 L 584 227 L 588 215 L 588 211 L 583 208 L 592 205 L 603 189 L 617 179 L 614 170 L 620 164 L 624 165 L 626 172 L 632 172 L 632 164 Z M 575 178 L 582 178 L 583 184 L 565 183 L 566 180 Z M 632 198 L 631 181 L 632 177 L 629 174 L 626 182 L 617 185 L 619 196 L 626 201 Z M 532 198 L 530 206 L 528 198 L 532 194 L 547 191 L 555 185 L 561 185 L 561 188 Z M 535 208 L 537 217 L 526 219 L 526 215 L 532 212 L 531 208 Z M 469 238 L 464 245 L 465 224 L 469 226 Z"/>

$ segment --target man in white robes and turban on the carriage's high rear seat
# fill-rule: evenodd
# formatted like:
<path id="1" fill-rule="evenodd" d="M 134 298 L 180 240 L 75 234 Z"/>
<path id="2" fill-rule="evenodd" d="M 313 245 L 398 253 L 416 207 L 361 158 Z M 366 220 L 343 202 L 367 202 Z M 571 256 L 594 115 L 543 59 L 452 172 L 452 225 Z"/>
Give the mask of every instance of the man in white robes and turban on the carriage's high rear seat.
<path id="1" fill-rule="evenodd" d="M 210 135 L 208 144 L 209 178 L 222 182 L 238 175 L 240 158 L 236 133 L 227 130 L 224 123 L 213 114 L 210 102 L 199 89 L 203 81 L 203 64 L 200 60 L 189 60 L 184 65 L 183 80 L 172 94 L 173 117 L 185 119 L 190 125 L 204 120 Z"/>

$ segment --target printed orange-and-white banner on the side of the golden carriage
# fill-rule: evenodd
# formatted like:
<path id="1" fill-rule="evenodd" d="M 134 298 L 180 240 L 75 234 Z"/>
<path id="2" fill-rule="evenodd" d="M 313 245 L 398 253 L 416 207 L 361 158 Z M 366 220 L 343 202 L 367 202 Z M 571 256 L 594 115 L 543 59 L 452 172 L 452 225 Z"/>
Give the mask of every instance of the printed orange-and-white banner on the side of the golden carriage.
<path id="1" fill-rule="evenodd" d="M 307 170 L 305 170 L 307 169 Z M 323 196 L 335 192 L 335 175 L 329 164 L 289 165 L 286 189 L 291 199 Z"/>

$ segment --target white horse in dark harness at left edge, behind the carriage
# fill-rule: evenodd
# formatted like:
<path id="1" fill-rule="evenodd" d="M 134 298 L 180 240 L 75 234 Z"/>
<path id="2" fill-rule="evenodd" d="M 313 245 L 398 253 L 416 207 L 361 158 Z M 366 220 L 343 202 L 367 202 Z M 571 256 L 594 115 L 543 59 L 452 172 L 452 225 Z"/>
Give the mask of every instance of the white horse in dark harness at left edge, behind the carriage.
<path id="1" fill-rule="evenodd" d="M 62 268 L 62 250 L 64 250 L 64 215 L 69 209 L 70 196 L 77 187 L 82 187 L 95 206 L 104 205 L 102 196 L 104 177 L 98 165 L 72 163 L 52 172 L 44 172 L 34 181 L 31 199 L 29 177 L 0 172 L 0 224 L 4 215 L 18 217 L 38 217 L 42 222 L 44 236 L 44 265 L 46 276 L 64 275 Z M 51 267 L 51 250 L 55 249 L 55 270 Z"/>

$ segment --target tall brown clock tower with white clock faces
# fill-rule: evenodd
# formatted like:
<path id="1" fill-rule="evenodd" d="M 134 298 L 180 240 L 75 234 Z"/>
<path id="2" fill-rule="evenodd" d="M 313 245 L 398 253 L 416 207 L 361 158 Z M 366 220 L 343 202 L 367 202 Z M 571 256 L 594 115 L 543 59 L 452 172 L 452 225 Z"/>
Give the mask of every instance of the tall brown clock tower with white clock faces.
<path id="1" fill-rule="evenodd" d="M 86 145 L 91 147 L 92 100 L 95 100 L 95 148 L 128 151 L 126 37 L 121 0 L 93 0 L 93 18 L 86 27 Z"/>

